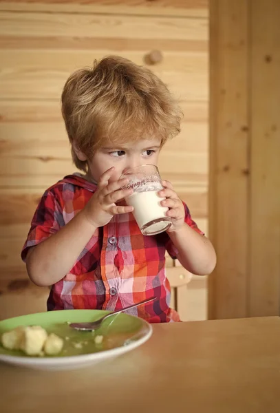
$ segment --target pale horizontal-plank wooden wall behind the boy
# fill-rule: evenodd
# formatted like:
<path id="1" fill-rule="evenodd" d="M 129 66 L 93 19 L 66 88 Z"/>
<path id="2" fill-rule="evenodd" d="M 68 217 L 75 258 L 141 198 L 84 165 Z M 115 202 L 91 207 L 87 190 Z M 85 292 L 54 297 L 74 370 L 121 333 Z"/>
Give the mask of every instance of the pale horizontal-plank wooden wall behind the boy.
<path id="1" fill-rule="evenodd" d="M 207 1 L 92 3 L 0 1 L 0 318 L 45 301 L 47 290 L 28 283 L 21 247 L 43 191 L 75 170 L 59 100 L 67 76 L 94 59 L 145 64 L 162 52 L 151 69 L 180 99 L 184 122 L 160 170 L 207 229 Z"/>

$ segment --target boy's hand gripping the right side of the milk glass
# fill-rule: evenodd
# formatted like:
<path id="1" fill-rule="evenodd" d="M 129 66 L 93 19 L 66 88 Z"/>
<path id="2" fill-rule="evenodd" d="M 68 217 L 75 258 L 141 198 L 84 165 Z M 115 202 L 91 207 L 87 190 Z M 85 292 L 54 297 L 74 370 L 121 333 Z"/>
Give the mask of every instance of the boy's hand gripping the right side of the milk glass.
<path id="1" fill-rule="evenodd" d="M 162 200 L 160 203 L 162 207 L 168 207 L 169 211 L 166 212 L 166 216 L 172 220 L 171 227 L 166 232 L 175 232 L 184 226 L 185 210 L 184 204 L 178 197 L 177 193 L 173 190 L 173 186 L 169 181 L 162 181 L 164 189 L 159 191 L 159 195 L 166 200 Z"/>

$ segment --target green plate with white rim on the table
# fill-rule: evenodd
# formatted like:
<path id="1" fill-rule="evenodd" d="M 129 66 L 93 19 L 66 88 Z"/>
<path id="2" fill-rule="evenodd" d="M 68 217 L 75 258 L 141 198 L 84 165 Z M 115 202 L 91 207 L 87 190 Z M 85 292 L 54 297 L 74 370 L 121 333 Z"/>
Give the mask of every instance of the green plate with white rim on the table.
<path id="1" fill-rule="evenodd" d="M 94 332 L 77 331 L 68 323 L 90 322 L 103 317 L 103 310 L 61 310 L 48 313 L 23 315 L 0 321 L 0 335 L 18 326 L 41 326 L 48 333 L 54 332 L 64 341 L 63 350 L 56 357 L 30 357 L 21 351 L 6 350 L 0 345 L 0 361 L 31 368 L 78 368 L 140 346 L 151 337 L 151 325 L 143 319 L 119 313 L 105 320 Z M 97 335 L 103 341 L 96 344 Z"/>

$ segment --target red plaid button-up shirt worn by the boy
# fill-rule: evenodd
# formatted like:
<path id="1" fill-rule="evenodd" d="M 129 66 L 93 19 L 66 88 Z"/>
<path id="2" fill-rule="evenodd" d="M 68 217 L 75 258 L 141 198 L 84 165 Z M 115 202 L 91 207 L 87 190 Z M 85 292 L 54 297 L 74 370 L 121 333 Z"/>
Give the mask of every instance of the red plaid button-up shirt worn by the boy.
<path id="1" fill-rule="evenodd" d="M 34 213 L 21 257 L 28 249 L 59 231 L 78 213 L 96 191 L 96 184 L 70 175 L 45 191 Z M 191 219 L 185 222 L 202 233 Z M 151 323 L 180 321 L 169 307 L 171 290 L 165 274 L 166 250 L 177 251 L 167 233 L 144 236 L 131 213 L 115 215 L 109 224 L 96 229 L 73 268 L 52 286 L 47 310 L 97 308 L 117 310 L 156 296 L 158 299 L 129 310 Z"/>

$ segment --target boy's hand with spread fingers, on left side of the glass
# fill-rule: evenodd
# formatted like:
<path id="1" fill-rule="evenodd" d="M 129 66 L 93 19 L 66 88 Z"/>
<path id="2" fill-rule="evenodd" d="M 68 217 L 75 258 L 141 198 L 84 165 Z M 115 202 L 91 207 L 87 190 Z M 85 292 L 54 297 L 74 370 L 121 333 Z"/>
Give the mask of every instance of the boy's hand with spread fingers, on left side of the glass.
<path id="1" fill-rule="evenodd" d="M 131 195 L 133 189 L 121 189 L 129 182 L 127 178 L 109 183 L 113 172 L 114 167 L 100 176 L 97 190 L 84 208 L 87 220 L 96 228 L 108 224 L 113 215 L 133 211 L 133 207 L 116 205 L 116 202 Z"/>

